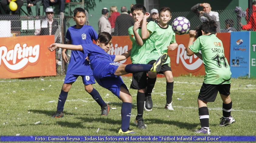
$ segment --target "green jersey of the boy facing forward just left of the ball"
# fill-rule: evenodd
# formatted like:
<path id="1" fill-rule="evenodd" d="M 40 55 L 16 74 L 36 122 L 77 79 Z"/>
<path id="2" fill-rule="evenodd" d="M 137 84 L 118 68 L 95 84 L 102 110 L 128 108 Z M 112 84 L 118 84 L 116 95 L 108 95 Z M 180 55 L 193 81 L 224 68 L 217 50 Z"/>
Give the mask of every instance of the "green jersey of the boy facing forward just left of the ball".
<path id="1" fill-rule="evenodd" d="M 166 53 L 171 43 L 176 43 L 175 33 L 172 30 L 171 25 L 167 25 L 167 27 L 161 27 L 159 24 L 155 24 L 155 50 L 151 51 L 150 56 L 148 57 L 147 62 L 151 60 L 157 60 L 163 53 Z M 170 65 L 170 57 L 168 55 L 168 59 L 164 64 Z"/>

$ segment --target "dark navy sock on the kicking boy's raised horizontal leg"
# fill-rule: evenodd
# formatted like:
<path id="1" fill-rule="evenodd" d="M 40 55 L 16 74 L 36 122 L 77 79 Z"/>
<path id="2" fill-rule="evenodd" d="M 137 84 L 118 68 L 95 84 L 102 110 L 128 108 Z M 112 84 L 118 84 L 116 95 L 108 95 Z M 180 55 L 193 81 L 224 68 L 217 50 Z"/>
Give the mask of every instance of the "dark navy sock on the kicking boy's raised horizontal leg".
<path id="1" fill-rule="evenodd" d="M 148 64 L 128 64 L 125 66 L 125 72 L 137 73 L 150 71 L 153 65 Z"/>

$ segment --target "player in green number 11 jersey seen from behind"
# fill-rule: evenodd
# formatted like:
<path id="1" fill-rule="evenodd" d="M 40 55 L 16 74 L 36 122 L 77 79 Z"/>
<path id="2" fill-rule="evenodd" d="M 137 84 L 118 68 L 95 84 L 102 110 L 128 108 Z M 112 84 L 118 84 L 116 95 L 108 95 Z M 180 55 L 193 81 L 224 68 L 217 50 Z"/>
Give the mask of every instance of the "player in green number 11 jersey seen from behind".
<path id="1" fill-rule="evenodd" d="M 222 41 L 216 37 L 217 25 L 213 20 L 206 20 L 189 31 L 189 42 L 186 47 L 187 56 L 196 54 L 203 60 L 205 77 L 197 98 L 201 129 L 196 133 L 210 135 L 208 102 L 214 102 L 218 92 L 223 101 L 222 114 L 219 126 L 227 126 L 235 122 L 231 116 L 232 100 L 230 97 L 231 72 L 224 55 Z M 194 39 L 195 42 L 193 43 Z M 199 51 L 201 50 L 201 53 Z"/>

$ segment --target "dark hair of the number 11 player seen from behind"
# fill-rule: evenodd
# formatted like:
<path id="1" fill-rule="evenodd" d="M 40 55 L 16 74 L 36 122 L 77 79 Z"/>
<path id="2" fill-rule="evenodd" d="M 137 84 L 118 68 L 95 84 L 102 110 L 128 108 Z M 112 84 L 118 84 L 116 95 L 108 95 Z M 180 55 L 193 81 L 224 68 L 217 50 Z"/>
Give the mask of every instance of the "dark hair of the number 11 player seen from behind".
<path id="1" fill-rule="evenodd" d="M 215 21 L 210 20 L 210 19 L 206 19 L 203 24 L 199 25 L 198 27 L 196 27 L 196 37 L 198 38 L 199 36 L 201 36 L 203 33 L 208 34 L 208 33 L 212 33 L 215 34 L 217 29 L 217 24 Z"/>

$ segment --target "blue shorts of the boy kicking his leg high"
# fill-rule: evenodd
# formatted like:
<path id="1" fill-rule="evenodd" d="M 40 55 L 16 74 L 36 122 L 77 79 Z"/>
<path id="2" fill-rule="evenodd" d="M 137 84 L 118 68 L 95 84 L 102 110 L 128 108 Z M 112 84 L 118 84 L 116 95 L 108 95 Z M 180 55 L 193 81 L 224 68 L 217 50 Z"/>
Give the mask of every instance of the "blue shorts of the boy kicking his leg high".
<path id="1" fill-rule="evenodd" d="M 101 65 L 93 69 L 93 75 L 97 83 L 120 99 L 120 87 L 123 86 L 128 90 L 122 78 L 114 74 L 121 63 L 94 61 L 94 64 Z"/>

